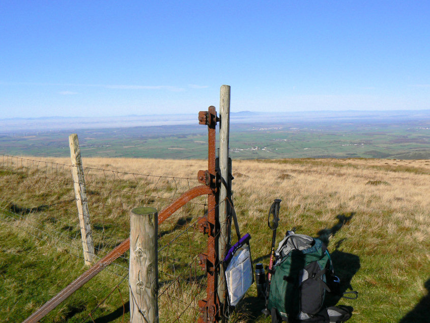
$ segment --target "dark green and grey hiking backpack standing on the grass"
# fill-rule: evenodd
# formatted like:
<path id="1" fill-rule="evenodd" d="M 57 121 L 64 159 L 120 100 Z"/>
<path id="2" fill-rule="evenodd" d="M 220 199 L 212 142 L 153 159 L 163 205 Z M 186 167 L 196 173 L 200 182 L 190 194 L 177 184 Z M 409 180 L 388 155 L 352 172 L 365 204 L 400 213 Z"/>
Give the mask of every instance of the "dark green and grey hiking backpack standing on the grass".
<path id="1" fill-rule="evenodd" d="M 327 280 L 334 276 L 327 247 L 320 239 L 287 232 L 275 252 L 267 309 L 282 320 L 329 321 L 324 306 Z"/>

